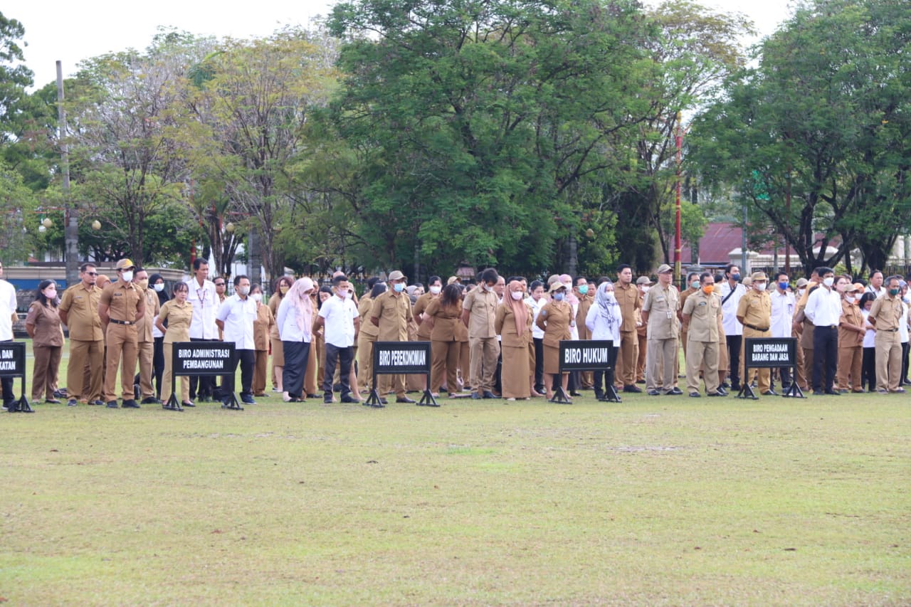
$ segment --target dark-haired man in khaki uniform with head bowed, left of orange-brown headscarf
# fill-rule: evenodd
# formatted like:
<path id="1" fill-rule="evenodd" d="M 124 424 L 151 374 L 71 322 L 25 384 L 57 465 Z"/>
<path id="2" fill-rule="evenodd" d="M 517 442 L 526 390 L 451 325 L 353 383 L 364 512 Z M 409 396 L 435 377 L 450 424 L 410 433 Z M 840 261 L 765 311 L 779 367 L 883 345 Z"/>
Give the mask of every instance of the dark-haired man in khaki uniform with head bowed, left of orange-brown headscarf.
<path id="1" fill-rule="evenodd" d="M 496 340 L 496 306 L 500 298 L 494 291 L 499 275 L 493 268 L 481 273 L 476 289 L 462 303 L 462 322 L 468 328 L 468 348 L 471 367 L 471 397 L 496 398 L 494 379 L 500 345 Z"/>

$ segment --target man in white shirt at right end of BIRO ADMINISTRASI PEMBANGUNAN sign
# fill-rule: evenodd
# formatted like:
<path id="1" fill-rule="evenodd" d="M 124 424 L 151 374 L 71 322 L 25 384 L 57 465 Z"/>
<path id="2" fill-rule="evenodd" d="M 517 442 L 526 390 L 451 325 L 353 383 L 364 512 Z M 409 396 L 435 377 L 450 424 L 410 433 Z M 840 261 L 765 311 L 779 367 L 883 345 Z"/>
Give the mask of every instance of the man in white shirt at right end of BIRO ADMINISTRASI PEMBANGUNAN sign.
<path id="1" fill-rule="evenodd" d="M 234 393 L 234 372 L 241 363 L 241 402 L 256 405 L 253 400 L 253 366 L 256 363 L 256 345 L 253 343 L 253 321 L 256 320 L 256 302 L 250 295 L 250 279 L 240 274 L 234 277 L 234 294 L 225 298 L 215 316 L 215 323 L 224 332 L 225 342 L 234 342 L 234 365 L 230 375 L 221 380 L 222 401 L 227 405 Z M 196 310 L 193 310 L 196 314 Z"/>

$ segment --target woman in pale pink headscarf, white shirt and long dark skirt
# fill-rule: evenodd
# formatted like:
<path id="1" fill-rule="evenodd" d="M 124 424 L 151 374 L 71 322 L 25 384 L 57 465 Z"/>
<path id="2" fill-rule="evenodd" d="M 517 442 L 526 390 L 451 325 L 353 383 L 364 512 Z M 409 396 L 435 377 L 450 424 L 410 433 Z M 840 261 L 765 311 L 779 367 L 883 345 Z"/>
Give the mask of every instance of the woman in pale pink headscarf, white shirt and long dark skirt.
<path id="1" fill-rule="evenodd" d="M 283 397 L 286 403 L 303 402 L 303 374 L 307 369 L 312 339 L 312 291 L 313 281 L 306 276 L 299 278 L 281 299 L 278 318 L 275 320 L 284 350 L 282 387 L 285 389 Z"/>

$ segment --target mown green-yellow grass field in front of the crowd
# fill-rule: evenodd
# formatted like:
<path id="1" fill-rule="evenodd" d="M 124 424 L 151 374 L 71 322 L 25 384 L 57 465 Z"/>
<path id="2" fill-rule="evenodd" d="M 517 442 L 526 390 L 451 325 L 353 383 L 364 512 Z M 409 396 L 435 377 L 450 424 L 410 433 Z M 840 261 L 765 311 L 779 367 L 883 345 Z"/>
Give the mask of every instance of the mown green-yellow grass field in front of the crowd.
<path id="1" fill-rule="evenodd" d="M 280 400 L 3 414 L 0 597 L 911 604 L 911 396 Z"/>

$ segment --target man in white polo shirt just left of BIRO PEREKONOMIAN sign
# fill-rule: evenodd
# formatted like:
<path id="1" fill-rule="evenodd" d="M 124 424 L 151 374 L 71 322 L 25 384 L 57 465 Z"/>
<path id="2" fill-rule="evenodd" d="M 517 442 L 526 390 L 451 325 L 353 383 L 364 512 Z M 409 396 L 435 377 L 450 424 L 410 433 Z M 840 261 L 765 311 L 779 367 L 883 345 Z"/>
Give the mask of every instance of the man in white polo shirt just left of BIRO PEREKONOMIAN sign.
<path id="1" fill-rule="evenodd" d="M 326 369 L 322 378 L 322 402 L 333 402 L 333 376 L 335 363 L 339 364 L 339 383 L 342 385 L 342 402 L 356 403 L 351 396 L 351 364 L 354 359 L 354 343 L 361 330 L 361 319 L 357 306 L 348 297 L 351 283 L 344 275 L 333 278 L 333 297 L 322 303 L 320 314 L 316 317 L 314 329 L 325 326 L 323 336 L 326 348 Z"/>

